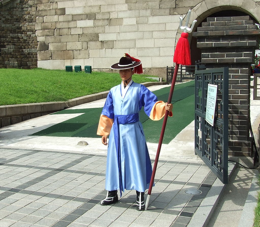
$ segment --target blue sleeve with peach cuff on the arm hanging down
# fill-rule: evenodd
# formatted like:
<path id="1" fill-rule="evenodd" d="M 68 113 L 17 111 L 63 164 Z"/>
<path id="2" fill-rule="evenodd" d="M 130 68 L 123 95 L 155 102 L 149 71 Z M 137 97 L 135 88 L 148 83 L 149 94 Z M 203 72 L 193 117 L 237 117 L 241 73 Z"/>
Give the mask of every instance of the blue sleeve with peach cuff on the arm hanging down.
<path id="1" fill-rule="evenodd" d="M 108 136 L 114 122 L 114 106 L 111 92 L 108 93 L 105 105 L 101 112 L 97 135 Z"/>

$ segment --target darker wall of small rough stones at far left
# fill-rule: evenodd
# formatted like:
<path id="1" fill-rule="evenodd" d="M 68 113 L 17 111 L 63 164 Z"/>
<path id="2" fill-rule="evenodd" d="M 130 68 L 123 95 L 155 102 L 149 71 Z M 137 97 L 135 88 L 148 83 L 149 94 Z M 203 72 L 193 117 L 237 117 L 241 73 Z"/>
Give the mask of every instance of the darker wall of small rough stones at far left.
<path id="1" fill-rule="evenodd" d="M 0 68 L 37 67 L 34 0 L 0 3 Z"/>

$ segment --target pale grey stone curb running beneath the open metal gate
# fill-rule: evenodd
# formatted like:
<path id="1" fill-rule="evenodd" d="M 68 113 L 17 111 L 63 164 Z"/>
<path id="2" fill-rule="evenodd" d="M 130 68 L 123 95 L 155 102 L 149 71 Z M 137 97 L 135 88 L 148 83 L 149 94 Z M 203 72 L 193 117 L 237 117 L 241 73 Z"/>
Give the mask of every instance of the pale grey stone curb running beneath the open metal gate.
<path id="1" fill-rule="evenodd" d="M 236 169 L 236 164 L 229 163 L 229 179 Z M 228 184 L 223 184 L 219 178 L 215 180 L 211 189 L 203 199 L 198 209 L 191 218 L 187 227 L 206 227 L 214 213 Z"/>

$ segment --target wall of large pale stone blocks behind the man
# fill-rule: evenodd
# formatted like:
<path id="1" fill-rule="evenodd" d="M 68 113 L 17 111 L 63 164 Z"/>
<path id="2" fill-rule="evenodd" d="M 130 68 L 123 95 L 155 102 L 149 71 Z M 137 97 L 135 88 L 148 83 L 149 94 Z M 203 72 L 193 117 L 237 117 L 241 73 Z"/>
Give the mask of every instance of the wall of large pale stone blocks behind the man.
<path id="1" fill-rule="evenodd" d="M 109 69 L 125 52 L 149 72 L 173 66 L 179 16 L 189 10 L 179 1 L 39 1 L 38 67 L 48 69 Z"/>

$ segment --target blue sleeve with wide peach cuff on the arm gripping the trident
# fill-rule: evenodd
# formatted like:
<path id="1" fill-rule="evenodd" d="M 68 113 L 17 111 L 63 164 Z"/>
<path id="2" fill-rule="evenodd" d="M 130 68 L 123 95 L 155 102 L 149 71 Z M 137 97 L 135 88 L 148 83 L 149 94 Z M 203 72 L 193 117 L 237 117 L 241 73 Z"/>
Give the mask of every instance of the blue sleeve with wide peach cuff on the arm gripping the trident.
<path id="1" fill-rule="evenodd" d="M 153 121 L 162 119 L 165 115 L 165 103 L 158 101 L 157 97 L 144 85 L 141 86 L 140 105 L 144 106 L 144 111 Z M 172 112 L 168 116 L 172 117 Z"/>

